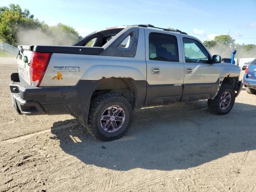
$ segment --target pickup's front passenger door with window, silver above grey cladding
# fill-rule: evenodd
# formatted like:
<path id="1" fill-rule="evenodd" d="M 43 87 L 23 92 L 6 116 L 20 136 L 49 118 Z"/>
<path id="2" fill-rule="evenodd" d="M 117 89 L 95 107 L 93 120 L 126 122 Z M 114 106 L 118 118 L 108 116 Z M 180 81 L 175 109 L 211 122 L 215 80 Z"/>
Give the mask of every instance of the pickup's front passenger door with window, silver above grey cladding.
<path id="1" fill-rule="evenodd" d="M 212 56 L 196 39 L 182 38 L 184 52 L 184 90 L 182 101 L 213 98 L 219 85 L 219 63 L 210 64 Z"/>

